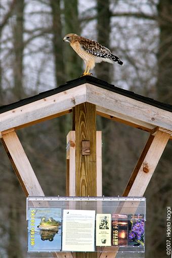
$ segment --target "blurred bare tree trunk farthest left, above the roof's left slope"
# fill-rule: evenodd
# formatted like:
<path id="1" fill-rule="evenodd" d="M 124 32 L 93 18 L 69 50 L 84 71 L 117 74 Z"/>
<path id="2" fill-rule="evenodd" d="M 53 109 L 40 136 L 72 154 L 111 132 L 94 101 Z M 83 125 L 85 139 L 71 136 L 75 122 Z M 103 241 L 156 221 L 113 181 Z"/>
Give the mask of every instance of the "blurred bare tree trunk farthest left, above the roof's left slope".
<path id="1" fill-rule="evenodd" d="M 16 99 L 24 97 L 23 89 L 23 12 L 24 0 L 16 2 L 14 14 L 16 16 L 15 24 L 13 25 L 13 46 L 14 46 L 14 88 L 13 93 Z"/>

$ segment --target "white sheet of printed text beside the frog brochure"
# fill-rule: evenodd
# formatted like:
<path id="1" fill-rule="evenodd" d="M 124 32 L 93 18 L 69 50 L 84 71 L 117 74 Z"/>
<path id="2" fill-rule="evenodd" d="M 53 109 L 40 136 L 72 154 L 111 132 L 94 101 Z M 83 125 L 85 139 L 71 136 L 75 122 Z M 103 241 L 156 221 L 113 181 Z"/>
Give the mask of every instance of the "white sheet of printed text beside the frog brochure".
<path id="1" fill-rule="evenodd" d="M 95 210 L 63 210 L 63 251 L 95 251 Z"/>

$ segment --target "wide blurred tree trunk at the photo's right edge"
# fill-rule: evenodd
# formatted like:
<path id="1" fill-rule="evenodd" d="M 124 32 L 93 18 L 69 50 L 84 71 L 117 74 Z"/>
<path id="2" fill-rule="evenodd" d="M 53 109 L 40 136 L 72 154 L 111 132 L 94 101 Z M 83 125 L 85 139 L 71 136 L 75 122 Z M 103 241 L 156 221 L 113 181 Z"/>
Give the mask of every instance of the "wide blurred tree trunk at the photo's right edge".
<path id="1" fill-rule="evenodd" d="M 159 22 L 159 50 L 158 50 L 158 99 L 172 104 L 172 2 L 171 0 L 159 0 L 158 22 Z"/>

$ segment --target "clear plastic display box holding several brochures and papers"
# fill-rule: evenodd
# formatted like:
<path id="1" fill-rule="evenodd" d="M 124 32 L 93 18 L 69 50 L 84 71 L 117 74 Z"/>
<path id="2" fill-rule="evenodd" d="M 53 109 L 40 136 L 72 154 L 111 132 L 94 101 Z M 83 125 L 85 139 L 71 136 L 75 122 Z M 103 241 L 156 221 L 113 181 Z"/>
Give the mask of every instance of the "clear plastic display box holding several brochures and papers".
<path id="1" fill-rule="evenodd" d="M 27 221 L 28 257 L 73 251 L 144 257 L 144 197 L 28 197 Z"/>

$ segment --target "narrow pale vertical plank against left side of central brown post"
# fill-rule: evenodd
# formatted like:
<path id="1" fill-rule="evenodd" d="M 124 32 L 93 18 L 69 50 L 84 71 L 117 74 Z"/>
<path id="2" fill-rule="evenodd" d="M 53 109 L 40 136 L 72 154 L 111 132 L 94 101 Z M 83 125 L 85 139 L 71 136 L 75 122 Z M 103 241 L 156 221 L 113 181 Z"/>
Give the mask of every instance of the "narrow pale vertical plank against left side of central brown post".
<path id="1" fill-rule="evenodd" d="M 75 131 L 70 131 L 67 135 L 67 175 L 66 175 L 66 195 L 75 196 Z"/>

